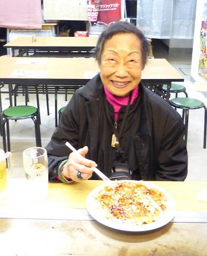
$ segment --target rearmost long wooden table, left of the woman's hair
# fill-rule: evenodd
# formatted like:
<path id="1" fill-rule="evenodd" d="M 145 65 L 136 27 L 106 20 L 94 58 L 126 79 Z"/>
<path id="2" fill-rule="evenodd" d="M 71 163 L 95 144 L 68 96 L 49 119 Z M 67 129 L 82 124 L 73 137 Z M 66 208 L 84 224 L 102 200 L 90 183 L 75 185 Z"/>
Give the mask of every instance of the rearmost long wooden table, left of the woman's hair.
<path id="1" fill-rule="evenodd" d="M 12 49 L 12 56 L 30 57 L 90 57 L 95 48 L 97 37 L 18 37 L 4 45 Z"/>

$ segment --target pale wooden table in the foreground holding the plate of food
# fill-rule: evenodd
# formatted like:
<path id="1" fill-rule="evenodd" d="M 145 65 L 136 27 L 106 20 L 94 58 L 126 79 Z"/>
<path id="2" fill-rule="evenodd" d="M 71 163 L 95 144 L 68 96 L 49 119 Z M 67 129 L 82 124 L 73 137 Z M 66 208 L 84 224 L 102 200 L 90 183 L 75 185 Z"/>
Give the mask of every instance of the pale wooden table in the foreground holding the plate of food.
<path id="1" fill-rule="evenodd" d="M 172 194 L 177 212 L 166 226 L 145 233 L 113 230 L 91 219 L 85 200 L 103 181 L 49 184 L 47 198 L 36 204 L 25 204 L 22 182 L 15 179 L 0 201 L 0 246 L 7 252 L 2 255 L 207 254 L 207 202 L 196 200 L 207 182 L 150 182 Z"/>

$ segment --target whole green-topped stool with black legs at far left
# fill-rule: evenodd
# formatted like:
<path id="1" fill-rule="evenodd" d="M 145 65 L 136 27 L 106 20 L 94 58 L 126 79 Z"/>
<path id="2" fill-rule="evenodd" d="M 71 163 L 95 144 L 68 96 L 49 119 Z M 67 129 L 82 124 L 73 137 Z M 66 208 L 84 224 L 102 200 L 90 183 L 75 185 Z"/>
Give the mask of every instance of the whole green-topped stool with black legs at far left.
<path id="1" fill-rule="evenodd" d="M 10 135 L 9 135 L 9 119 L 11 120 L 21 120 L 31 118 L 34 122 L 35 128 L 35 139 L 36 146 L 41 147 L 41 134 L 40 134 L 40 114 L 37 108 L 33 106 L 14 106 L 5 109 L 2 112 L 2 137 L 3 137 L 3 147 L 4 151 L 11 150 L 10 148 Z M 7 124 L 7 143 L 6 143 L 6 132 L 5 124 Z"/>

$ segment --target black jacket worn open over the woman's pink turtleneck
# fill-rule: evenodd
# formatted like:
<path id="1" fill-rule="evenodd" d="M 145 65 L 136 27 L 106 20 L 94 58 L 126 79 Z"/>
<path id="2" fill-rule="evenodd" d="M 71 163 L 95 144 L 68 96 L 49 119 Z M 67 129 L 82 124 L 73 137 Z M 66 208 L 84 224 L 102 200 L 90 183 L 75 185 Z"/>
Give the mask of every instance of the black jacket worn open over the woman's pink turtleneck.
<path id="1" fill-rule="evenodd" d="M 77 90 L 46 149 L 49 179 L 57 181 L 57 167 L 70 153 L 69 141 L 76 149 L 88 146 L 87 158 L 109 176 L 115 149 L 111 147 L 112 127 L 104 111 L 105 93 L 99 75 Z M 125 107 L 119 111 L 122 122 Z M 113 108 L 111 106 L 111 115 Z M 133 179 L 184 181 L 187 175 L 185 127 L 179 113 L 155 93 L 139 84 L 139 96 L 130 105 L 122 145 L 133 172 Z M 92 179 L 99 179 L 96 174 Z"/>

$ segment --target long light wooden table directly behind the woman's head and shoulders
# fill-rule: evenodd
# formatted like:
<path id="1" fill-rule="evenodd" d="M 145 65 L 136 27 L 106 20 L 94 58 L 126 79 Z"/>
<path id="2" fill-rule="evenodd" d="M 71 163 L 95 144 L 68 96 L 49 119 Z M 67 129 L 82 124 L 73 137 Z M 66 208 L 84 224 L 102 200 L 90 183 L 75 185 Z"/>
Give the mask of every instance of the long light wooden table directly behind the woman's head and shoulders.
<path id="1" fill-rule="evenodd" d="M 83 86 L 95 73 L 99 72 L 98 65 L 93 58 L 2 57 L 0 67 L 2 86 L 4 84 L 27 84 L 28 86 L 34 84 L 37 86 L 40 84 L 75 86 L 78 84 Z M 20 75 L 12 75 L 14 71 L 20 71 Z M 155 90 L 157 85 L 167 84 L 167 92 L 160 93 L 160 96 L 169 100 L 171 83 L 184 81 L 184 79 L 166 59 L 148 59 L 143 70 L 142 81 L 151 90 Z"/>

